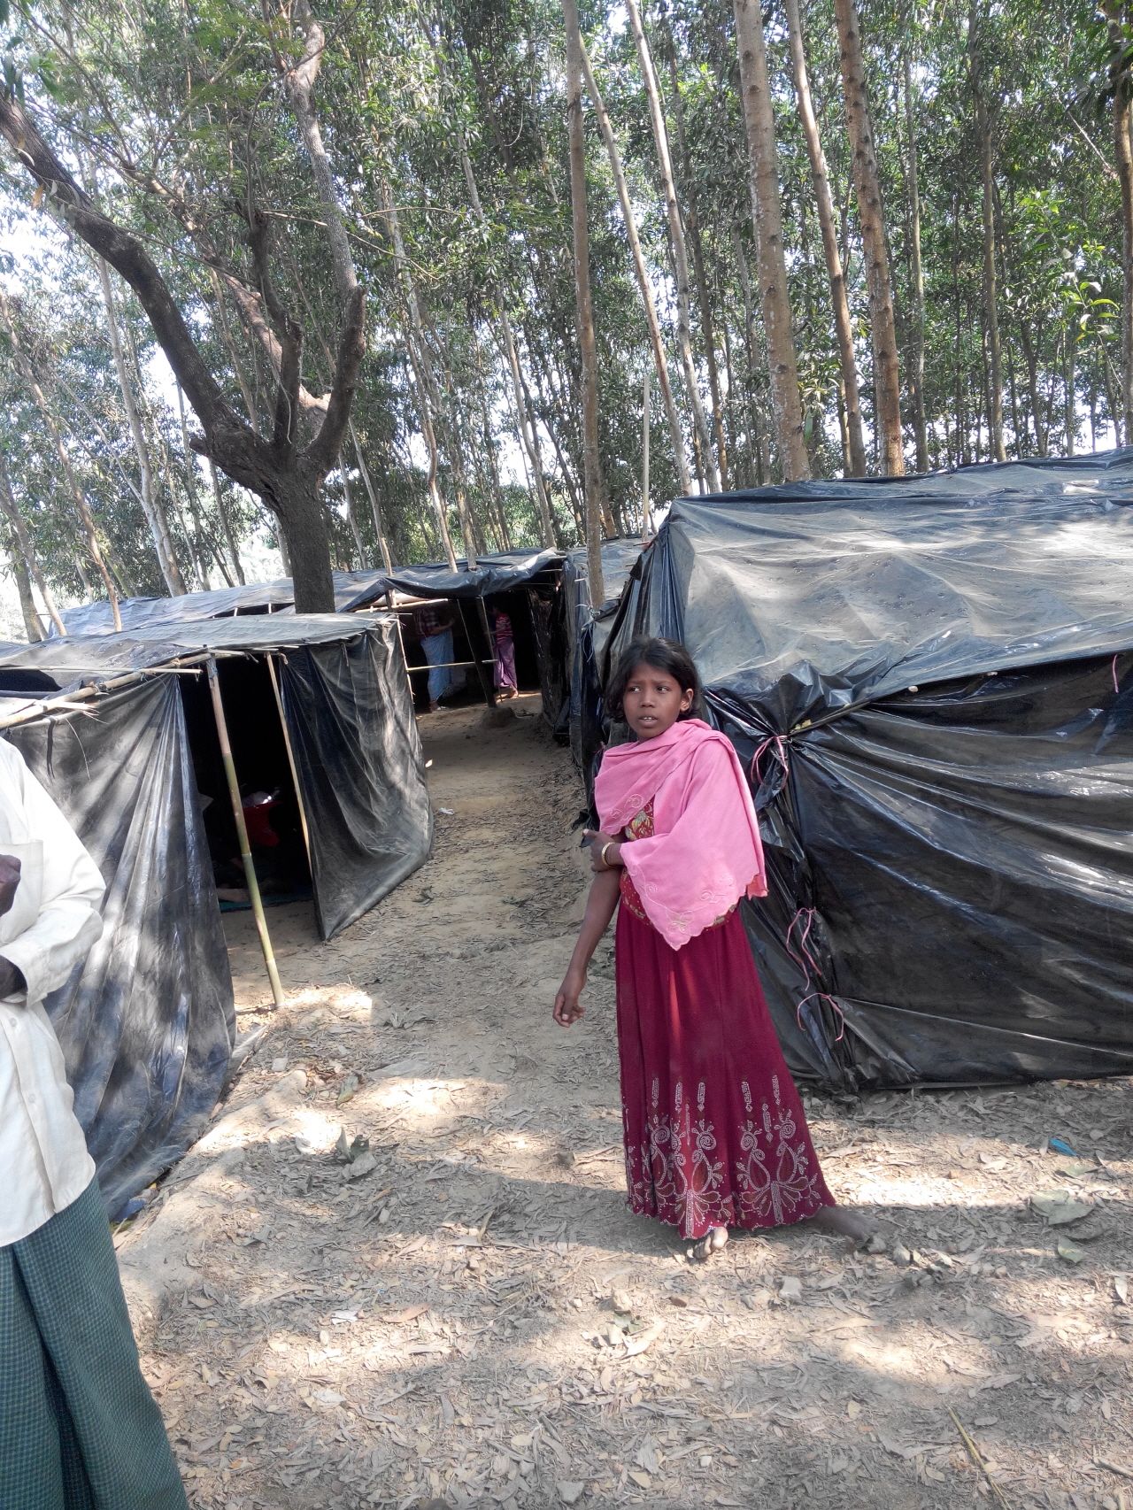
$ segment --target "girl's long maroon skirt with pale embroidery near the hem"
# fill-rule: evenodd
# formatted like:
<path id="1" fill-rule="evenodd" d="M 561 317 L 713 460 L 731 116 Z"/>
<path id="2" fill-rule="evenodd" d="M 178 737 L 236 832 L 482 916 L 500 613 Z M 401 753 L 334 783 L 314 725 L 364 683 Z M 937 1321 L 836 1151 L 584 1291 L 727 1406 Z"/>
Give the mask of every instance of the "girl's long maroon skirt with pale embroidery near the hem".
<path id="1" fill-rule="evenodd" d="M 622 900 L 616 974 L 630 1210 L 699 1238 L 832 1206 L 739 912 L 672 950 Z"/>

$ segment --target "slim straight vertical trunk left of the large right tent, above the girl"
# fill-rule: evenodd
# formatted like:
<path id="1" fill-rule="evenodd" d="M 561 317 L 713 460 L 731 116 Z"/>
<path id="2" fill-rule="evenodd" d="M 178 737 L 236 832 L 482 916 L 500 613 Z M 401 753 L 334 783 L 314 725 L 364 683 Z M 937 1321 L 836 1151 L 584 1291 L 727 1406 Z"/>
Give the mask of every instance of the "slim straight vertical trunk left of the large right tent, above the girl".
<path id="1" fill-rule="evenodd" d="M 633 6 L 633 0 L 630 0 Z M 598 353 L 591 307 L 591 240 L 586 223 L 586 142 L 582 122 L 582 33 L 576 0 L 563 0 L 566 24 L 566 133 L 571 159 L 571 225 L 574 230 L 574 300 L 582 356 L 582 458 L 586 485 L 586 575 L 591 602 L 606 601 L 601 572 L 601 465 L 598 461 Z"/>

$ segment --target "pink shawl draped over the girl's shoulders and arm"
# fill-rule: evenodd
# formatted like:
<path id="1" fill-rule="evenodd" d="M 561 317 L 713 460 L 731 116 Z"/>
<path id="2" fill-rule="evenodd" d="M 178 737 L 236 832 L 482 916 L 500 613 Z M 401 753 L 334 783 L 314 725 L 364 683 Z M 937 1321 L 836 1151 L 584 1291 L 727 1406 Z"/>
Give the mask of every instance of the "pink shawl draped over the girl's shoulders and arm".
<path id="1" fill-rule="evenodd" d="M 731 740 L 701 719 L 603 755 L 603 834 L 619 834 L 650 799 L 653 838 L 627 843 L 621 858 L 650 923 L 680 948 L 740 897 L 766 897 L 760 826 Z"/>

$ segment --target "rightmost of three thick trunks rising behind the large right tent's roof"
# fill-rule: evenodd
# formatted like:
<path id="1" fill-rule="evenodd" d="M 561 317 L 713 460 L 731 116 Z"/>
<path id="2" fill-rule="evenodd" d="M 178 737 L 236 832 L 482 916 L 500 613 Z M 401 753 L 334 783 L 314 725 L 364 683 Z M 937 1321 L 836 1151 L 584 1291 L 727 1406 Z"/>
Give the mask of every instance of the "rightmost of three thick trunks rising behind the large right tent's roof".
<path id="1" fill-rule="evenodd" d="M 861 27 L 855 0 L 834 0 L 841 54 L 841 85 L 846 97 L 846 125 L 854 160 L 854 189 L 866 260 L 866 285 L 870 296 L 873 370 L 878 394 L 875 430 L 881 470 L 887 477 L 905 476 L 900 435 L 900 376 L 897 328 L 893 314 L 893 288 L 885 254 L 885 222 L 881 207 L 881 175 L 870 127 L 866 65 L 861 56 Z"/>

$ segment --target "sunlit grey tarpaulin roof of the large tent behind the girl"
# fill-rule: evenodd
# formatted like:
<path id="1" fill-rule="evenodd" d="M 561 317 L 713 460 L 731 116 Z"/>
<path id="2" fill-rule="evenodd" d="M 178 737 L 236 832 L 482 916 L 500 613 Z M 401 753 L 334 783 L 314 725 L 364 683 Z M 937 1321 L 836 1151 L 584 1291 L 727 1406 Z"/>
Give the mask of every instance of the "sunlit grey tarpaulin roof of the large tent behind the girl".
<path id="1" fill-rule="evenodd" d="M 1133 648 L 1133 448 L 680 498 L 648 618 L 792 728 L 908 686 Z M 660 595 L 660 596 L 659 596 Z"/>

